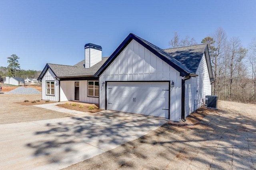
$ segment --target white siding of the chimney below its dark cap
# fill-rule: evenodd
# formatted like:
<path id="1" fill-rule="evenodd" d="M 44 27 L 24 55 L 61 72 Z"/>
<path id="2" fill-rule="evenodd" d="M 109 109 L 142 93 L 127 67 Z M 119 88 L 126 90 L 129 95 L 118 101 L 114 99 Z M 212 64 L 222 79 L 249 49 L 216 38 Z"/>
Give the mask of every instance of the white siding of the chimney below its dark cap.
<path id="1" fill-rule="evenodd" d="M 90 68 L 101 61 L 102 51 L 93 48 L 85 49 L 85 68 Z"/>

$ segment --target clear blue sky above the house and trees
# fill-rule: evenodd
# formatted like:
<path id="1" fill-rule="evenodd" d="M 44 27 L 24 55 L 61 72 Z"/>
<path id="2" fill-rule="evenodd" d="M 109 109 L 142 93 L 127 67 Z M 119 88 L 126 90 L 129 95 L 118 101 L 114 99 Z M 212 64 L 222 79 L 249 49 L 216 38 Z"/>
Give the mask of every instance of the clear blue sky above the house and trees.
<path id="1" fill-rule="evenodd" d="M 177 31 L 198 43 L 218 27 L 247 47 L 256 37 L 256 0 L 0 0 L 0 66 L 12 54 L 20 68 L 74 65 L 84 45 L 110 56 L 129 33 L 166 49 Z"/>

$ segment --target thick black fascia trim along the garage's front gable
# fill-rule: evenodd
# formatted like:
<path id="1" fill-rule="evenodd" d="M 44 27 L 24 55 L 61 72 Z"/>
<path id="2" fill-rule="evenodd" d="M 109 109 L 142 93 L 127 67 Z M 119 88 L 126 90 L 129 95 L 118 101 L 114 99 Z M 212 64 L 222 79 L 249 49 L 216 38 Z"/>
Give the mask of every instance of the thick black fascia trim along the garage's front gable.
<path id="1" fill-rule="evenodd" d="M 162 59 L 164 62 L 168 63 L 170 66 L 172 66 L 174 69 L 176 69 L 178 72 L 180 72 L 180 76 L 189 76 L 190 72 L 187 72 L 177 66 L 176 64 L 172 63 L 170 60 L 168 60 L 166 57 L 163 57 L 160 53 L 158 53 L 156 50 L 154 50 L 152 47 L 150 47 L 148 44 L 144 43 L 140 37 L 137 37 L 133 33 L 130 33 L 124 41 L 117 47 L 117 49 L 112 53 L 112 55 L 109 57 L 109 59 L 100 67 L 100 69 L 94 74 L 95 77 L 98 77 L 106 68 L 116 59 L 116 57 L 123 51 L 123 49 L 134 39 L 138 43 L 140 43 L 142 46 L 144 46 L 146 49 L 148 49 L 150 52 L 152 52 L 154 55 Z M 146 40 L 144 40 L 146 41 Z M 148 41 L 146 41 L 148 42 Z M 151 43 L 150 43 L 151 44 Z M 168 55 L 168 53 L 166 53 Z M 172 64 L 170 64 L 170 62 Z M 177 61 L 178 62 L 178 61 Z"/>

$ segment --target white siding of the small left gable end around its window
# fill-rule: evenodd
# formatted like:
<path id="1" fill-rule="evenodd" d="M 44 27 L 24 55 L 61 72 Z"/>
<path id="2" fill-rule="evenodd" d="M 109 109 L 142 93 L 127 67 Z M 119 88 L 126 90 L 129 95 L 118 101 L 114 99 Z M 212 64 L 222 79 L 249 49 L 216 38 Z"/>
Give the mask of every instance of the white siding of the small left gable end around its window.
<path id="1" fill-rule="evenodd" d="M 52 70 L 48 69 L 42 78 L 42 100 L 59 101 L 59 81 L 54 78 Z M 46 81 L 54 81 L 54 96 L 46 95 Z"/>

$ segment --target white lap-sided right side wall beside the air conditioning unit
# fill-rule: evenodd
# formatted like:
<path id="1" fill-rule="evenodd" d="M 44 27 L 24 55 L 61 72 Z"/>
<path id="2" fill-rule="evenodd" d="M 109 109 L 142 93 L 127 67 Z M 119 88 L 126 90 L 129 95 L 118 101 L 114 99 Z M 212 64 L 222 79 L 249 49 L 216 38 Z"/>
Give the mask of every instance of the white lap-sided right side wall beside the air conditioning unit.
<path id="1" fill-rule="evenodd" d="M 200 61 L 196 74 L 198 77 L 192 77 L 185 81 L 185 116 L 205 103 L 206 95 L 211 95 L 212 86 L 205 55 Z"/>

